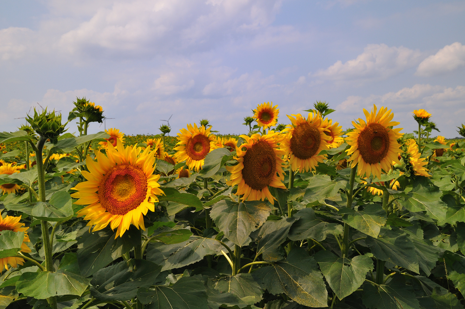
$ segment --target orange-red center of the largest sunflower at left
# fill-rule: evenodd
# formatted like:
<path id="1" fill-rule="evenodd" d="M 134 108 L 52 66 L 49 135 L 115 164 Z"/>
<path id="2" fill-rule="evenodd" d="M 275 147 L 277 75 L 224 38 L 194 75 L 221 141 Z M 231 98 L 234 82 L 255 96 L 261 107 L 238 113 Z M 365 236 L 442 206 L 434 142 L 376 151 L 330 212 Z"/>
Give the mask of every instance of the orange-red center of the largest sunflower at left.
<path id="1" fill-rule="evenodd" d="M 147 177 L 140 168 L 119 164 L 103 177 L 98 194 L 106 211 L 113 215 L 125 215 L 144 202 Z"/>

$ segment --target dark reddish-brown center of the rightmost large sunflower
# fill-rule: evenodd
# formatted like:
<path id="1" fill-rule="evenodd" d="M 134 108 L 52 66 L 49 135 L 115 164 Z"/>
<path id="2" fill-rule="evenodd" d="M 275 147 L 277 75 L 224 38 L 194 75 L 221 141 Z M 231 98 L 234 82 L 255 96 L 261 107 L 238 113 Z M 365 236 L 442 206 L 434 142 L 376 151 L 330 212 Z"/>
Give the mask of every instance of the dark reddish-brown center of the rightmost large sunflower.
<path id="1" fill-rule="evenodd" d="M 389 132 L 379 123 L 370 123 L 360 132 L 357 143 L 366 163 L 379 163 L 389 151 Z"/>

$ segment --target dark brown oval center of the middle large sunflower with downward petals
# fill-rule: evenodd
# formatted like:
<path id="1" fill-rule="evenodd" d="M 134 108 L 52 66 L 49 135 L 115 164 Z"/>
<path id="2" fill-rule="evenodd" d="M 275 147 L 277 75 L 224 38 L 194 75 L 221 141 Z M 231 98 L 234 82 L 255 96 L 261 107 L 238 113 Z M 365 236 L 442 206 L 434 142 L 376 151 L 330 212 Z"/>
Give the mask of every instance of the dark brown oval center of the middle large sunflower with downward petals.
<path id="1" fill-rule="evenodd" d="M 254 190 L 267 187 L 276 175 L 276 155 L 266 141 L 253 144 L 244 155 L 242 178 Z"/>

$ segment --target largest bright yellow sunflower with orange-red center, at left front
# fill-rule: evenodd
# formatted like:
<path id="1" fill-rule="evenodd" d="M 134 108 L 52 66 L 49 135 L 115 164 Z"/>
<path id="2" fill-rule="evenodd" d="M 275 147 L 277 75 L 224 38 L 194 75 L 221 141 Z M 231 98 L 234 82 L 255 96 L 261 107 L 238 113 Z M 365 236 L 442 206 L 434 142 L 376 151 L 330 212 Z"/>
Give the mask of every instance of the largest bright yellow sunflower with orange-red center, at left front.
<path id="1" fill-rule="evenodd" d="M 154 211 L 156 195 L 163 194 L 159 188 L 159 175 L 153 175 L 155 152 L 146 148 L 127 146 L 124 148 L 117 139 L 116 149 L 108 143 L 106 156 L 95 152 L 97 161 L 86 158 L 89 169 L 81 171 L 87 181 L 73 188 L 78 192 L 71 196 L 79 198 L 76 205 L 88 205 L 78 211 L 78 216 L 90 220 L 87 226 L 93 231 L 105 228 L 108 223 L 112 229 L 118 227 L 116 237 L 121 236 L 133 223 L 145 230 L 143 215 Z"/>

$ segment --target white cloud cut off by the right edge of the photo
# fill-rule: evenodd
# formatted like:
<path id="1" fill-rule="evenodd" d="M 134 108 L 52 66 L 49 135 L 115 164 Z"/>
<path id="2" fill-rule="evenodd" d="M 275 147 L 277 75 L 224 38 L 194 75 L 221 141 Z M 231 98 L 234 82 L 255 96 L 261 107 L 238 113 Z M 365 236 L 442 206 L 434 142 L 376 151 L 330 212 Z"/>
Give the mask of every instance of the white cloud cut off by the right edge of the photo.
<path id="1" fill-rule="evenodd" d="M 465 45 L 455 42 L 423 60 L 415 73 L 418 76 L 433 76 L 456 70 L 465 65 Z"/>

